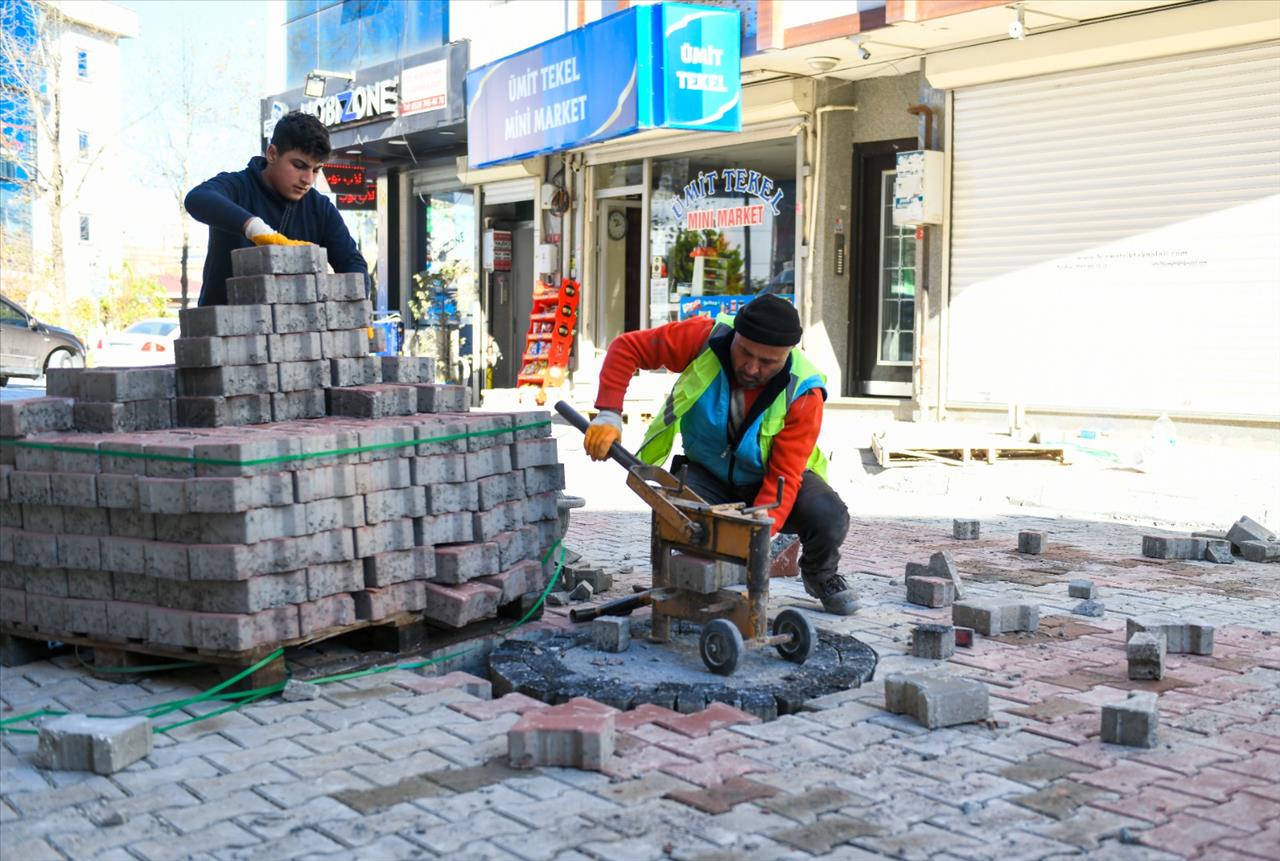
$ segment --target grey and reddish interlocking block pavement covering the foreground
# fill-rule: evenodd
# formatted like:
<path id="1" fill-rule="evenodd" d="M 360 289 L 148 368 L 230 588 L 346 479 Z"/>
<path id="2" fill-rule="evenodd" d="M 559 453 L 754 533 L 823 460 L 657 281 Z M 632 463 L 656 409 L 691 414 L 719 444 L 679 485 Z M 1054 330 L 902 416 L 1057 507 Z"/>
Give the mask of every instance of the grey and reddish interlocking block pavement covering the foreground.
<path id="1" fill-rule="evenodd" d="M 589 498 L 567 544 L 631 568 L 621 594 L 648 576 L 648 513 L 617 467 L 584 467 L 568 440 L 562 450 L 568 493 Z M 1280 565 L 1144 559 L 1149 525 L 945 486 L 986 486 L 989 476 L 928 470 L 908 489 L 879 486 L 895 472 L 840 478 L 854 509 L 844 571 L 863 599 L 856 617 L 815 613 L 797 582 L 774 581 L 772 612 L 797 606 L 881 654 L 876 681 L 813 711 L 701 734 L 635 719 L 611 774 L 512 771 L 506 731 L 536 704 L 434 690 L 402 670 L 191 724 L 113 777 L 40 771 L 33 737 L 4 736 L 0 857 L 1280 858 Z M 1133 507 L 1153 499 L 1139 490 Z M 1277 526 L 1229 485 L 1207 496 L 1231 519 Z M 1100 509 L 1111 502 L 1097 499 Z M 951 517 L 980 517 L 982 539 L 952 540 Z M 1152 508 L 1149 519 L 1176 518 Z M 1043 555 L 1014 550 L 1025 528 L 1050 533 Z M 913 624 L 950 620 L 948 610 L 904 603 L 905 563 L 940 549 L 955 555 L 966 597 L 1038 601 L 1041 632 L 979 638 L 948 661 L 908 656 Z M 1103 618 L 1071 615 L 1073 578 L 1097 583 Z M 1124 619 L 1147 613 L 1219 626 L 1213 655 L 1171 655 L 1162 682 L 1130 682 Z M 991 722 L 928 732 L 883 710 L 884 674 L 938 664 L 988 684 Z M 196 690 L 183 673 L 100 681 L 74 658 L 0 670 L 5 716 L 122 713 Z M 1132 690 L 1160 692 L 1155 750 L 1097 739 L 1101 706 Z"/>

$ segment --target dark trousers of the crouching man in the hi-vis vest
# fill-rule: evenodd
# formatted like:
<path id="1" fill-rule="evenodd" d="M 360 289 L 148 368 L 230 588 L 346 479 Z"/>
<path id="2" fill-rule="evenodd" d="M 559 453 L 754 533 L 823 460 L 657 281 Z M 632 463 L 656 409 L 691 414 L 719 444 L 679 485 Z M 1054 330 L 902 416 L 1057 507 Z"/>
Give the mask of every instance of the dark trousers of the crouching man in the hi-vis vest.
<path id="1" fill-rule="evenodd" d="M 727 485 L 684 455 L 672 463 L 675 475 L 680 475 L 681 463 L 689 464 L 689 486 L 709 503 L 750 504 L 760 491 L 760 485 Z M 849 509 L 831 485 L 813 470 L 806 470 L 782 532 L 800 537 L 800 573 L 810 578 L 829 574 L 840 564 L 840 545 L 849 533 Z"/>

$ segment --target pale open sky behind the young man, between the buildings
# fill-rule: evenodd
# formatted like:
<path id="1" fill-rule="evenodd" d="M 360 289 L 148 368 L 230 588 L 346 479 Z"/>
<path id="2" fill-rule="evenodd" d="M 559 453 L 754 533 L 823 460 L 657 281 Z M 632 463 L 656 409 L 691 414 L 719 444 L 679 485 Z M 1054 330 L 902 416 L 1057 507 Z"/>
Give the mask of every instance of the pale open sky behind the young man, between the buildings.
<path id="1" fill-rule="evenodd" d="M 279 3 L 280 0 L 273 0 Z M 129 244 L 173 247 L 177 201 L 164 168 L 186 156 L 192 184 L 239 170 L 259 152 L 259 99 L 266 90 L 266 0 L 116 0 L 138 15 L 138 37 L 122 40 L 122 139 L 136 205 Z M 197 110 L 180 107 L 182 81 L 191 82 Z M 192 146 L 186 146 L 191 127 Z M 204 244 L 205 226 L 193 239 Z"/>

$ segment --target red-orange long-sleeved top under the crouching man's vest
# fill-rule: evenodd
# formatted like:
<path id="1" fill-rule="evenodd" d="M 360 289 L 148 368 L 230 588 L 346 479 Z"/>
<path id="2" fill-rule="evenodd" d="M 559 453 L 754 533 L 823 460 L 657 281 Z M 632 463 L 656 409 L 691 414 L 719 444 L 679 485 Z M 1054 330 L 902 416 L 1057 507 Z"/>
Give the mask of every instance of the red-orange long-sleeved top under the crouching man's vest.
<path id="1" fill-rule="evenodd" d="M 692 317 L 655 329 L 627 331 L 614 338 L 600 368 L 595 408 L 622 412 L 622 398 L 626 395 L 627 384 L 640 368 L 655 371 L 664 367 L 676 374 L 684 371 L 703 352 L 714 325 L 710 317 Z M 727 376 L 730 384 L 736 385 L 732 371 Z M 744 390 L 742 400 L 746 411 L 751 409 L 760 391 L 760 389 Z M 818 391 L 808 391 L 792 402 L 782 430 L 773 438 L 769 461 L 764 464 L 764 482 L 753 503 L 764 505 L 774 502 L 778 477 L 786 480 L 782 485 L 782 504 L 769 512 L 774 535 L 787 522 L 796 493 L 800 490 L 809 453 L 818 444 L 820 430 L 822 395 Z"/>

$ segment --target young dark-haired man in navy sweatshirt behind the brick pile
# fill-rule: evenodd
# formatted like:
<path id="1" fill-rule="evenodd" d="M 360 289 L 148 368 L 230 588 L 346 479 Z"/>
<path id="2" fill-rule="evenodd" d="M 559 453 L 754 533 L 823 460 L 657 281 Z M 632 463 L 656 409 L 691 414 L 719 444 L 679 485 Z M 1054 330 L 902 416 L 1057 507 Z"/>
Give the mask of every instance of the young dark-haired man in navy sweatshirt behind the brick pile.
<path id="1" fill-rule="evenodd" d="M 187 211 L 209 225 L 200 304 L 227 304 L 232 251 L 252 246 L 324 246 L 335 273 L 360 273 L 369 292 L 369 264 L 333 202 L 311 186 L 329 157 L 329 130 L 292 111 L 276 122 L 266 157 L 221 173 L 187 194 Z"/>

